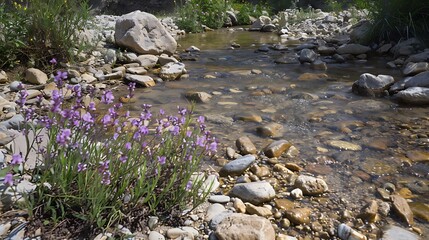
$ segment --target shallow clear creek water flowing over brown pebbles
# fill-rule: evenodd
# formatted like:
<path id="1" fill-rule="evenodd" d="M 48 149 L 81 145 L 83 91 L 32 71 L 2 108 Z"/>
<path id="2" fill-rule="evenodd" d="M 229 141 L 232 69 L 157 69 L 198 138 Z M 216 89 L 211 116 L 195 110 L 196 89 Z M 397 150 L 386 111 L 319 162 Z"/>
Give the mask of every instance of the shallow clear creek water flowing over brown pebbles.
<path id="1" fill-rule="evenodd" d="M 365 200 L 377 198 L 376 189 L 385 183 L 395 184 L 397 190 L 406 187 L 413 202 L 429 204 L 429 108 L 351 93 L 353 82 L 365 72 L 401 79 L 399 70 L 384 67 L 385 59 L 328 64 L 327 71 L 320 71 L 302 64 L 276 64 L 280 51 L 256 51 L 261 44 L 281 43 L 275 34 L 224 29 L 189 34 L 178 42 L 181 50 L 191 45 L 201 49 L 197 61 L 184 62 L 189 78 L 140 88 L 139 103 L 175 111 L 188 104 L 184 93 L 189 90 L 217 93 L 209 103 L 198 104 L 196 112 L 207 116 L 222 144 L 234 146 L 238 137 L 247 135 L 262 149 L 272 139 L 260 137 L 256 128 L 280 123 L 284 129 L 274 139 L 286 139 L 299 150 L 296 157 L 281 161 L 325 178 L 349 210 L 359 211 Z M 241 48 L 228 49 L 232 42 Z M 288 45 L 288 51 L 295 46 Z M 251 74 L 252 69 L 262 73 Z M 303 73 L 326 73 L 328 78 L 298 80 Z M 216 78 L 205 78 L 208 74 Z M 250 113 L 261 116 L 262 123 L 236 119 Z M 329 144 L 332 140 L 361 149 L 340 149 Z M 419 159 L 422 154 L 426 160 Z M 417 221 L 416 226 L 429 234 L 429 224 Z"/>

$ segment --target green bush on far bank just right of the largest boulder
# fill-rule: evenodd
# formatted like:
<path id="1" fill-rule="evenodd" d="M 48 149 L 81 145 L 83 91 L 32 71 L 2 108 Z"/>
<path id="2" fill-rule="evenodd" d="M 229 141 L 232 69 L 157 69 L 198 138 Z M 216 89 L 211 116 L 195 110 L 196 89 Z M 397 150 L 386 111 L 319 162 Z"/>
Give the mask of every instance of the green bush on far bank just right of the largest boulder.
<path id="1" fill-rule="evenodd" d="M 218 29 L 226 19 L 228 1 L 187 0 L 177 9 L 177 26 L 187 32 L 201 32 L 202 25 Z"/>

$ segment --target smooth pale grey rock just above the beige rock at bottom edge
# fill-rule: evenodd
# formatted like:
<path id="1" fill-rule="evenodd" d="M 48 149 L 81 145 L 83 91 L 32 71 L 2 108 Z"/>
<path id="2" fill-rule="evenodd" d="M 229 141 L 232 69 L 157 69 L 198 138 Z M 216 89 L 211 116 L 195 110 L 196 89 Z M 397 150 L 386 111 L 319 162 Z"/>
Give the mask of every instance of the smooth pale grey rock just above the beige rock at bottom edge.
<path id="1" fill-rule="evenodd" d="M 250 182 L 234 185 L 230 194 L 244 202 L 259 205 L 273 199 L 276 192 L 269 182 Z"/>

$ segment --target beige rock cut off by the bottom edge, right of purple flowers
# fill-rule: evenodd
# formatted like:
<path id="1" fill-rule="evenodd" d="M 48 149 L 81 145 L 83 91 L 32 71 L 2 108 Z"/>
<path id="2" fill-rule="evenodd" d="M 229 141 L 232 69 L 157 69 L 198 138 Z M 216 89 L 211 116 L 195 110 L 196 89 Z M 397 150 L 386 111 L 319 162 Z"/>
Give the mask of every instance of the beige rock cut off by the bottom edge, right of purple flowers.
<path id="1" fill-rule="evenodd" d="M 271 222 L 264 218 L 242 213 L 225 217 L 215 231 L 218 240 L 274 240 L 276 234 Z"/>

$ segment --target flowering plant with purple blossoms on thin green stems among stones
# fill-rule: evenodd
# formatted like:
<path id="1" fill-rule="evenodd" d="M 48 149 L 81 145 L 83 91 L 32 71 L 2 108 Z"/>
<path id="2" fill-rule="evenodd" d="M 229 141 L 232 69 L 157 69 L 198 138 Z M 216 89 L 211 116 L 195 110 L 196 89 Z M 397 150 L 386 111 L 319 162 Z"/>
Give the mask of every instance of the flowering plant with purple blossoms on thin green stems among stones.
<path id="1" fill-rule="evenodd" d="M 192 110 L 179 108 L 177 116 L 160 110 L 155 119 L 147 104 L 131 117 L 120 103 L 114 104 L 109 90 L 101 96 L 100 107 L 108 109 L 102 114 L 95 109 L 94 89 L 65 86 L 66 78 L 63 72 L 55 76 L 59 90 L 53 91 L 50 106 L 40 109 L 47 115 L 36 115 L 36 109 L 25 105 L 25 89 L 18 93 L 26 120 L 22 133 L 36 137 L 27 137 L 27 152 L 13 155 L 5 184 L 31 176 L 37 187 L 26 199 L 33 216 L 54 224 L 78 219 L 106 228 L 204 200 L 211 186 L 205 183 L 204 188 L 203 175 L 195 173 L 217 147 L 204 117 L 194 124 Z M 130 84 L 129 97 L 134 88 Z M 91 96 L 87 105 L 85 91 Z M 67 101 L 70 92 L 74 98 Z M 37 159 L 29 159 L 32 149 Z M 36 162 L 35 168 L 22 170 L 29 161 Z"/>

